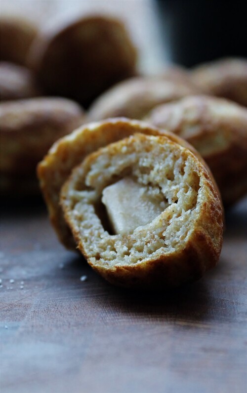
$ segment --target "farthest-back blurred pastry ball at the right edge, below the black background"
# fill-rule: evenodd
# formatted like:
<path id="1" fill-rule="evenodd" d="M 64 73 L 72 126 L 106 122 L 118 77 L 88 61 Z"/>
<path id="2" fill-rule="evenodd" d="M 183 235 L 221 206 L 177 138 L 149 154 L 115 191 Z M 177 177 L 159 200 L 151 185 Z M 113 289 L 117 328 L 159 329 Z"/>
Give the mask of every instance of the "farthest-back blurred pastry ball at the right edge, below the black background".
<path id="1" fill-rule="evenodd" d="M 192 80 L 206 94 L 228 98 L 247 106 L 247 59 L 222 59 L 192 71 Z"/>

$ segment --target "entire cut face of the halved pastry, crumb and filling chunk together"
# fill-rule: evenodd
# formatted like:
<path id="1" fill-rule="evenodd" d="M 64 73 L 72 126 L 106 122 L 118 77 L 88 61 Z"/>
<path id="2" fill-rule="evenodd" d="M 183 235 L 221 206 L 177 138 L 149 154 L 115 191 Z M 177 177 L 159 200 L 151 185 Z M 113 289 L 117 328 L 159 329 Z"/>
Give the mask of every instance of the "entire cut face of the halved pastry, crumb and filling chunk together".
<path id="1" fill-rule="evenodd" d="M 70 183 L 70 217 L 94 265 L 156 260 L 183 248 L 193 231 L 204 192 L 199 163 L 183 147 L 149 138 L 102 149 Z"/>

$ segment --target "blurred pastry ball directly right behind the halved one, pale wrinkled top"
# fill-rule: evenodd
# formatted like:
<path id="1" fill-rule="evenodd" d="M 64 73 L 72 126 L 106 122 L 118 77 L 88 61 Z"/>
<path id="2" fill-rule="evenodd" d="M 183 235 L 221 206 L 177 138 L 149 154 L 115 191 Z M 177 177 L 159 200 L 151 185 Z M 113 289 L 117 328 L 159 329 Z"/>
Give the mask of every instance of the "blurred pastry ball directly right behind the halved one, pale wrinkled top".
<path id="1" fill-rule="evenodd" d="M 225 206 L 247 193 L 247 109 L 234 102 L 191 96 L 155 108 L 146 119 L 185 138 L 203 156 Z"/>

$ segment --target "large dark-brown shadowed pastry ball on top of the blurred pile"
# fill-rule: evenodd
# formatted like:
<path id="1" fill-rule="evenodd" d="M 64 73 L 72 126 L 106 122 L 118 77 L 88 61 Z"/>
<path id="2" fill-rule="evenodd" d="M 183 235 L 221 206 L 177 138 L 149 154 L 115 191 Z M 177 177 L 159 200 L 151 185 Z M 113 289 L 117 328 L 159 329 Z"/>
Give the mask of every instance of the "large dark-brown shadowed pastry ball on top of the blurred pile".
<path id="1" fill-rule="evenodd" d="M 84 16 L 43 30 L 29 56 L 29 64 L 47 92 L 71 97 L 83 106 L 134 75 L 136 60 L 136 49 L 124 25 L 107 16 Z"/>

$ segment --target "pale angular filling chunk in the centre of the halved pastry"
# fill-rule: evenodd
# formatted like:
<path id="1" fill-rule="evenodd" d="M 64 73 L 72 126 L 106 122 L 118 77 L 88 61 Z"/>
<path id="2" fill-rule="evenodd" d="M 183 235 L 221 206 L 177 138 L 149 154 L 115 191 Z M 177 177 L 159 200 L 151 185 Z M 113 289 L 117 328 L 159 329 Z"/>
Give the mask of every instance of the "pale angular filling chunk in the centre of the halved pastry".
<path id="1" fill-rule="evenodd" d="M 127 235 L 149 224 L 165 209 L 164 200 L 147 192 L 147 187 L 131 177 L 124 177 L 104 188 L 102 203 L 115 234 Z"/>

